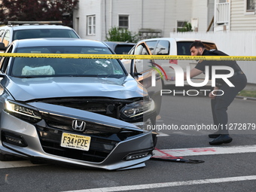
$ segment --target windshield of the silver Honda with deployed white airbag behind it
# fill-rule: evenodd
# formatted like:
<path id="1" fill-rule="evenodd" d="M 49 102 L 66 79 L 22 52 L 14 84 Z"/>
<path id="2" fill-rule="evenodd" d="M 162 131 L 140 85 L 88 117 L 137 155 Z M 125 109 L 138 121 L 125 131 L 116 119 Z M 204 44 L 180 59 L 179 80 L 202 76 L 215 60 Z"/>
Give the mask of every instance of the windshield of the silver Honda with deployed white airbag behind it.
<path id="1" fill-rule="evenodd" d="M 105 47 L 22 47 L 17 53 L 80 53 L 111 54 Z M 38 78 L 56 76 L 83 76 L 122 78 L 124 72 L 117 59 L 62 59 L 16 57 L 11 66 L 11 76 Z"/>

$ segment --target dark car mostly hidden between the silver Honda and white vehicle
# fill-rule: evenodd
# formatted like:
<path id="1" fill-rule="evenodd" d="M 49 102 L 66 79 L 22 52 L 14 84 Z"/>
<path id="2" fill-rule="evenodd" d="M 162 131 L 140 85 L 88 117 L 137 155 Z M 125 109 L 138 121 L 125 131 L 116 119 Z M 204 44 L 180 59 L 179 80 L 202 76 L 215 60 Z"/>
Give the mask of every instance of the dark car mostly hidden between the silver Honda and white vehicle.
<path id="1" fill-rule="evenodd" d="M 127 54 L 135 45 L 134 43 L 129 42 L 115 42 L 115 41 L 104 41 L 105 44 L 108 44 L 114 53 L 117 54 Z"/>

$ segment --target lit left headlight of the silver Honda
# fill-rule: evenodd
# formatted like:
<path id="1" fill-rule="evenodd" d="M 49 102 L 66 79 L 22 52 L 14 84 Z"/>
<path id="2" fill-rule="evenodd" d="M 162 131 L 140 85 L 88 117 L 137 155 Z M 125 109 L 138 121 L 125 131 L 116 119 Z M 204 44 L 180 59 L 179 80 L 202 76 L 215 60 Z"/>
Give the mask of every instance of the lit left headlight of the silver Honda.
<path id="1" fill-rule="evenodd" d="M 41 120 L 40 114 L 35 109 L 27 108 L 23 105 L 9 102 L 8 100 L 5 101 L 5 111 L 8 111 L 8 113 L 14 115 L 15 117 L 31 123 L 35 123 Z"/>

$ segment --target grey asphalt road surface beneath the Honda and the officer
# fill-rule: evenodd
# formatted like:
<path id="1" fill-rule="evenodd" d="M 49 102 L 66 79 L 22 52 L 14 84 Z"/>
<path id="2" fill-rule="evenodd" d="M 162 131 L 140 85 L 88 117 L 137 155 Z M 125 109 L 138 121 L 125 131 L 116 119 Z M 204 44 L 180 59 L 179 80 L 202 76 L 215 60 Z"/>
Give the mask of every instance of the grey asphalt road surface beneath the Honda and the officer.
<path id="1" fill-rule="evenodd" d="M 209 98 L 205 96 L 163 96 L 162 106 L 162 118 L 157 121 L 158 124 L 212 123 Z M 229 122 L 256 123 L 255 106 L 255 101 L 235 99 L 229 108 Z M 52 164 L 35 166 L 19 161 L 21 167 L 0 169 L 0 191 L 255 191 L 256 152 L 215 153 L 217 149 L 232 151 L 238 146 L 254 149 L 254 132 L 232 131 L 233 142 L 217 147 L 209 145 L 211 139 L 207 134 L 210 132 L 159 131 L 157 148 L 160 150 L 184 151 L 182 149 L 187 148 L 189 151 L 197 148 L 207 151 L 211 148 L 212 154 L 184 156 L 184 159 L 203 160 L 204 163 L 148 160 L 142 169 L 106 171 Z"/>

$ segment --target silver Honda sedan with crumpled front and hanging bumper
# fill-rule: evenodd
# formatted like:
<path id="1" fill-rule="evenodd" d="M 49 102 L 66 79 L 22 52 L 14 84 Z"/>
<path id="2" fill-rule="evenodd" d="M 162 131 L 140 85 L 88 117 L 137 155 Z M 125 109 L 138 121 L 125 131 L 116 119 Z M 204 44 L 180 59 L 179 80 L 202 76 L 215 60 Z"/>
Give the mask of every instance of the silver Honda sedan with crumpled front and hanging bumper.
<path id="1" fill-rule="evenodd" d="M 16 40 L 6 53 L 113 54 L 100 41 Z M 102 169 L 145 166 L 154 100 L 119 59 L 5 57 L 0 61 L 0 157 Z"/>

